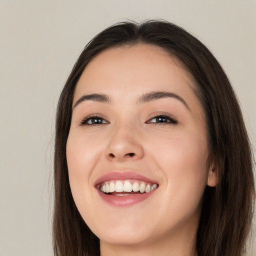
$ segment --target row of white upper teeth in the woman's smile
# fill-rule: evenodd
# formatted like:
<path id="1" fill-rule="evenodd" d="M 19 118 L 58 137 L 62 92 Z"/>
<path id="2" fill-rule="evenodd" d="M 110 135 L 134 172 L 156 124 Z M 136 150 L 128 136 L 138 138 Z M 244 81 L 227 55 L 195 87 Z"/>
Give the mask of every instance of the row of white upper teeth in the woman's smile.
<path id="1" fill-rule="evenodd" d="M 157 184 L 150 185 L 149 183 L 141 182 L 140 184 L 135 181 L 133 184 L 131 184 L 129 181 L 125 180 L 124 183 L 120 180 L 117 181 L 110 181 L 104 182 L 100 186 L 100 191 L 103 191 L 104 193 L 111 193 L 111 192 L 137 192 L 140 193 L 148 193 L 155 189 L 157 187 Z"/>

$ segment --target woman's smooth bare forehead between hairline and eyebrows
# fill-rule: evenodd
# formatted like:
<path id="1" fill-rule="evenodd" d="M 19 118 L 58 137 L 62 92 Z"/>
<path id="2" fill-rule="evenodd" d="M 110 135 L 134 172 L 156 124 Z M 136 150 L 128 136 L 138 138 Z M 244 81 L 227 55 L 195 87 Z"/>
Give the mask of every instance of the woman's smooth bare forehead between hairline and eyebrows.
<path id="1" fill-rule="evenodd" d="M 194 83 L 180 62 L 148 44 L 109 48 L 94 57 L 77 82 L 74 100 L 83 93 L 127 94 L 152 90 L 191 93 Z"/>

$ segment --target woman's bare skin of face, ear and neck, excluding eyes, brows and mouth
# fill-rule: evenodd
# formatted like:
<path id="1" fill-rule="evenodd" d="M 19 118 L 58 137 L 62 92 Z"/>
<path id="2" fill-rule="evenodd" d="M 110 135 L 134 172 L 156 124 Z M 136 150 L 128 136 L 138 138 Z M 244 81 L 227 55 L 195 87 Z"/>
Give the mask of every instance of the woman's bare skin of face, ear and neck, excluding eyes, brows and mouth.
<path id="1" fill-rule="evenodd" d="M 77 104 L 66 144 L 72 195 L 100 239 L 102 256 L 196 255 L 201 199 L 205 186 L 216 184 L 216 175 L 208 160 L 205 117 L 195 85 L 177 63 L 152 45 L 111 48 L 88 63 L 77 83 L 73 105 L 90 93 L 111 99 Z M 152 91 L 175 93 L 187 106 L 174 97 L 137 102 Z M 177 123 L 156 122 L 154 116 L 163 113 Z M 105 123 L 79 125 L 91 114 Z M 109 205 L 93 185 L 113 170 L 134 171 L 159 186 L 131 206 Z"/>

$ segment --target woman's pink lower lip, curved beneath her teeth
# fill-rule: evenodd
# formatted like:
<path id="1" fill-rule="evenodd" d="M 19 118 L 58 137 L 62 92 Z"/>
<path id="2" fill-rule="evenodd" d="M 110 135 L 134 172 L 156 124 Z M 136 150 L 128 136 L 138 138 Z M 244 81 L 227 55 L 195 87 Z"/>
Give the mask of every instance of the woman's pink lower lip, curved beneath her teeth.
<path id="1" fill-rule="evenodd" d="M 108 195 L 105 193 L 100 192 L 97 189 L 97 192 L 99 193 L 100 197 L 111 206 L 131 206 L 135 203 L 141 202 L 145 199 L 147 199 L 150 195 L 152 195 L 155 192 L 156 189 L 148 192 L 148 193 L 141 193 L 141 194 L 131 194 L 131 195 Z"/>

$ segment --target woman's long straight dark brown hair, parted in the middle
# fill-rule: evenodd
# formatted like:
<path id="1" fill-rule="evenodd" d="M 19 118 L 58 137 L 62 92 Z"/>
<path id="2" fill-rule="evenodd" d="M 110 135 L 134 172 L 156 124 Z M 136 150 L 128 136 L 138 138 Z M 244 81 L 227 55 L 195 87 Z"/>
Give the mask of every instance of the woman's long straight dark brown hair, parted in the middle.
<path id="1" fill-rule="evenodd" d="M 216 187 L 206 186 L 196 236 L 198 256 L 241 256 L 255 197 L 252 152 L 235 93 L 211 52 L 184 29 L 162 20 L 117 23 L 96 35 L 78 57 L 61 92 L 56 114 L 53 247 L 55 256 L 99 255 L 99 239 L 80 216 L 68 180 L 66 141 L 76 83 L 86 64 L 110 47 L 156 45 L 178 59 L 196 85 L 207 125 Z"/>

